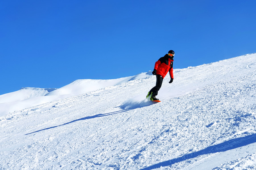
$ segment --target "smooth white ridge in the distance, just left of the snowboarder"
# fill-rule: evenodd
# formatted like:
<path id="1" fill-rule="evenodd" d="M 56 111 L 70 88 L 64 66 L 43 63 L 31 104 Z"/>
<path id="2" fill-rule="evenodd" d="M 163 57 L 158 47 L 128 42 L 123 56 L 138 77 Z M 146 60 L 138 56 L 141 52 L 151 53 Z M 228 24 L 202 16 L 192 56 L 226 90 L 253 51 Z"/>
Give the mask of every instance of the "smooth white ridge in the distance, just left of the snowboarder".
<path id="1" fill-rule="evenodd" d="M 57 90 L 49 92 L 46 96 L 49 95 L 64 95 L 64 94 L 74 94 L 79 95 L 82 93 L 98 90 L 101 88 L 105 88 L 108 86 L 115 86 L 117 84 L 121 84 L 127 81 L 145 78 L 147 76 L 152 75 L 152 71 L 148 71 L 147 73 L 140 73 L 135 76 L 117 78 L 117 79 L 109 79 L 109 80 L 93 80 L 93 79 L 80 79 L 71 82 L 70 84 L 63 86 Z"/>

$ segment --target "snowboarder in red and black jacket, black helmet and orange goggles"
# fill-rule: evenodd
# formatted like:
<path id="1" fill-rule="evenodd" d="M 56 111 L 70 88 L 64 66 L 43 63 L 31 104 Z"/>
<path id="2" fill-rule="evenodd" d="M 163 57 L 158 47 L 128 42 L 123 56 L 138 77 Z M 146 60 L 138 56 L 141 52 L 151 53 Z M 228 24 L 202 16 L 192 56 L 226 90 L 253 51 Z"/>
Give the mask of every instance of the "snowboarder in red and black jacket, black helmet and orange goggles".
<path id="1" fill-rule="evenodd" d="M 158 94 L 158 91 L 160 90 L 162 86 L 162 82 L 164 77 L 167 75 L 168 71 L 170 73 L 171 80 L 169 83 L 173 82 L 173 57 L 174 57 L 174 51 L 170 50 L 168 54 L 165 54 L 164 57 L 161 57 L 158 61 L 155 63 L 154 71 L 152 71 L 153 75 L 156 75 L 156 86 L 154 86 L 149 92 L 146 98 L 149 97 L 150 100 L 155 101 L 159 100 L 156 98 L 156 95 Z"/>

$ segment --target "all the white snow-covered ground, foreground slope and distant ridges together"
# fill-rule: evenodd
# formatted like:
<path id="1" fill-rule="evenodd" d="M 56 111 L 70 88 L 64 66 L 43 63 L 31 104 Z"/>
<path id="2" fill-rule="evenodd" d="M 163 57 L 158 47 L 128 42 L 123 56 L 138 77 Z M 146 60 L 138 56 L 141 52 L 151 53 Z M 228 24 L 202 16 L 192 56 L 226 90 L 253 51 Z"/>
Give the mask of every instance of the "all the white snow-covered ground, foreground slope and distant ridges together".
<path id="1" fill-rule="evenodd" d="M 0 95 L 0 169 L 256 169 L 256 54 L 174 69 L 160 103 L 145 100 L 155 82 Z"/>

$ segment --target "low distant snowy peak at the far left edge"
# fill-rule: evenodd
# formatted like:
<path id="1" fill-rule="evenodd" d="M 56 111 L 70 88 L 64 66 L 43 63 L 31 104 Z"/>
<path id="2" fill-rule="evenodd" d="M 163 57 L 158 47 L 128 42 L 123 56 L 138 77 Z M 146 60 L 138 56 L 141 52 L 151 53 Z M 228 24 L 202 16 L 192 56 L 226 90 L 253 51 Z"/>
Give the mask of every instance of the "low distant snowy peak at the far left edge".
<path id="1" fill-rule="evenodd" d="M 0 103 L 22 101 L 31 97 L 44 96 L 56 88 L 22 87 L 20 90 L 0 95 Z"/>

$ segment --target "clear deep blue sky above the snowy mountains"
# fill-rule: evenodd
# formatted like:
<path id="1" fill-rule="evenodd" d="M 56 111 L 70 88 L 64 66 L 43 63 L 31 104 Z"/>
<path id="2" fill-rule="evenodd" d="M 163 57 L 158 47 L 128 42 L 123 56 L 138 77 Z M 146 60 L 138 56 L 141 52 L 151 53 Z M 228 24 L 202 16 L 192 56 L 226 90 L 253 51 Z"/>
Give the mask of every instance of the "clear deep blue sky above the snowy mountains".
<path id="1" fill-rule="evenodd" d="M 1 1 L 0 95 L 136 75 L 169 50 L 174 69 L 254 53 L 255 9 L 255 0 Z"/>

